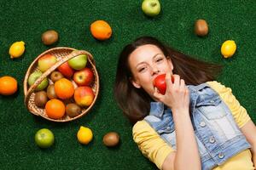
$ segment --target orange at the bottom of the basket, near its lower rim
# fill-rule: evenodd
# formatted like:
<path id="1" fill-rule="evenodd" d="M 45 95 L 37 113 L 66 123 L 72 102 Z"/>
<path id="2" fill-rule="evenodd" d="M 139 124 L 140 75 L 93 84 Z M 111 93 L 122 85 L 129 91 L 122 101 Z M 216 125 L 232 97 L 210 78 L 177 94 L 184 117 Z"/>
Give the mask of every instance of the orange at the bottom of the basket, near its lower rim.
<path id="1" fill-rule="evenodd" d="M 50 99 L 45 105 L 45 112 L 49 118 L 59 119 L 65 114 L 65 105 L 60 99 Z"/>

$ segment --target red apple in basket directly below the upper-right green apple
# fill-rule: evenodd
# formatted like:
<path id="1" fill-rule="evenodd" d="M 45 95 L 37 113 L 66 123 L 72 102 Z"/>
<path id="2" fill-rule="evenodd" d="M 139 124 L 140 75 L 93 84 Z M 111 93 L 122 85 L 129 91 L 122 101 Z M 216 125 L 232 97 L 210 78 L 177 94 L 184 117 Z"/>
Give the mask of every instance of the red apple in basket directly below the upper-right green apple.
<path id="1" fill-rule="evenodd" d="M 89 86 L 93 81 L 93 72 L 90 68 L 84 68 L 81 71 L 76 71 L 73 75 L 73 81 L 77 83 L 78 86 Z"/>

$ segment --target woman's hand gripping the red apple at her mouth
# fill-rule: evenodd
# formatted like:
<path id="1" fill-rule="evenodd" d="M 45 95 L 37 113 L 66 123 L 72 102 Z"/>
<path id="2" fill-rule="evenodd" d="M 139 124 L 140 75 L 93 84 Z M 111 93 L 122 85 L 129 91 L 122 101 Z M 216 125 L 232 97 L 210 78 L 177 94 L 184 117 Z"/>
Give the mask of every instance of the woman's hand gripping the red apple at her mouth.
<path id="1" fill-rule="evenodd" d="M 166 73 L 166 94 L 162 95 L 154 88 L 154 97 L 172 108 L 173 112 L 189 112 L 189 88 L 186 87 L 183 79 L 178 75 L 173 75 L 174 82 L 171 81 L 171 74 Z"/>

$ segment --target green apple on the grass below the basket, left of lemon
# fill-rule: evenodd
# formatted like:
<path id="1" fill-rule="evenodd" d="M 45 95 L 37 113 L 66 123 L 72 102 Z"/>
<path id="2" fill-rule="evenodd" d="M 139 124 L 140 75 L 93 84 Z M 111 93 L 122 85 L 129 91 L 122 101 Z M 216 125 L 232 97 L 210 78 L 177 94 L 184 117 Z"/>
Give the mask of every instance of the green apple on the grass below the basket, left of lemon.
<path id="1" fill-rule="evenodd" d="M 40 148 L 49 148 L 55 142 L 55 135 L 48 128 L 41 128 L 35 135 L 35 142 Z"/>

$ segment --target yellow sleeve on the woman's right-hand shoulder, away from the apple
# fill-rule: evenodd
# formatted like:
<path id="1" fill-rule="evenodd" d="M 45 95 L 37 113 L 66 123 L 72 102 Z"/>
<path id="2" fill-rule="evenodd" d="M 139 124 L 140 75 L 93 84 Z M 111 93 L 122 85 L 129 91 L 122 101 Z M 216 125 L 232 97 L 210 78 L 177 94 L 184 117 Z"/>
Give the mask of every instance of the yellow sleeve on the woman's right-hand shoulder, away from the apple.
<path id="1" fill-rule="evenodd" d="M 209 84 L 210 87 L 219 94 L 220 98 L 223 99 L 224 103 L 228 105 L 238 127 L 243 127 L 251 120 L 250 116 L 247 114 L 247 110 L 240 105 L 236 97 L 232 94 L 231 88 L 226 88 L 216 81 L 207 82 L 207 84 Z"/>

